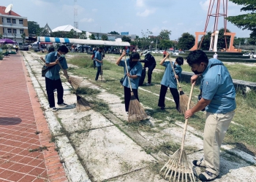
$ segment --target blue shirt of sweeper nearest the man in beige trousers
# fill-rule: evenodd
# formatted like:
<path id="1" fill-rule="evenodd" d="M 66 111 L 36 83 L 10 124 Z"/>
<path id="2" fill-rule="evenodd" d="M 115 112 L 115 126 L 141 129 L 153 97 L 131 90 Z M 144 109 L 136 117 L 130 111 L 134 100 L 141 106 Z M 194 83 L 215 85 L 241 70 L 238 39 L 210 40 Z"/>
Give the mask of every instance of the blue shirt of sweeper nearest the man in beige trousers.
<path id="1" fill-rule="evenodd" d="M 174 62 L 170 62 L 169 60 L 165 61 L 165 63 L 162 64 L 162 66 L 165 66 L 165 74 L 162 76 L 162 81 L 161 84 L 165 85 L 165 87 L 170 87 L 170 88 L 177 88 L 177 80 L 176 77 L 173 73 L 173 68 L 171 67 L 170 63 L 173 64 L 174 71 L 176 72 L 176 75 L 178 75 L 178 78 L 181 78 L 181 72 L 182 68 L 181 66 L 176 67 L 174 66 Z"/>

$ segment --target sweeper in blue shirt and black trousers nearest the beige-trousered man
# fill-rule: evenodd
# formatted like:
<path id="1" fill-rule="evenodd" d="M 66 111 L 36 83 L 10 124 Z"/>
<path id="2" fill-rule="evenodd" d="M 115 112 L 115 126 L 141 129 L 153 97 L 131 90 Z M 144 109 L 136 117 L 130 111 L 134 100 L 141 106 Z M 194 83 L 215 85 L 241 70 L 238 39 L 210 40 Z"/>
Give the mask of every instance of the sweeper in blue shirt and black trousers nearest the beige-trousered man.
<path id="1" fill-rule="evenodd" d="M 169 87 L 171 94 L 173 95 L 173 99 L 176 103 L 176 109 L 178 110 L 178 103 L 179 103 L 179 95 L 177 90 L 177 80 L 176 78 L 181 77 L 181 65 L 184 63 L 184 59 L 182 57 L 176 58 L 175 63 L 171 61 L 165 61 L 167 58 L 169 58 L 170 53 L 167 52 L 165 55 L 165 58 L 163 58 L 160 62 L 160 65 L 165 66 L 165 74 L 162 77 L 161 81 L 161 90 L 158 100 L 158 106 L 161 107 L 161 109 L 165 109 L 165 95 L 167 92 L 167 89 Z M 176 76 L 173 73 L 173 68 L 170 64 L 173 64 L 174 70 L 176 72 Z"/>

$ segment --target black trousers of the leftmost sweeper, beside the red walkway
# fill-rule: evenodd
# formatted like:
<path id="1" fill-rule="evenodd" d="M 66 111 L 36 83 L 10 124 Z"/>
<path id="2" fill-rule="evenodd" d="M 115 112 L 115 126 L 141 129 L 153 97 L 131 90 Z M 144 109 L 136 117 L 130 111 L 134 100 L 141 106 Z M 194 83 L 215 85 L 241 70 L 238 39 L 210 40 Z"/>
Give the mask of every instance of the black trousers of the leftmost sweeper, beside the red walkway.
<path id="1" fill-rule="evenodd" d="M 53 92 L 53 90 L 55 89 L 57 90 L 58 104 L 63 103 L 64 90 L 61 84 L 61 79 L 52 80 L 45 77 L 45 84 L 46 84 L 46 92 L 47 92 L 50 108 L 55 107 L 54 92 Z"/>

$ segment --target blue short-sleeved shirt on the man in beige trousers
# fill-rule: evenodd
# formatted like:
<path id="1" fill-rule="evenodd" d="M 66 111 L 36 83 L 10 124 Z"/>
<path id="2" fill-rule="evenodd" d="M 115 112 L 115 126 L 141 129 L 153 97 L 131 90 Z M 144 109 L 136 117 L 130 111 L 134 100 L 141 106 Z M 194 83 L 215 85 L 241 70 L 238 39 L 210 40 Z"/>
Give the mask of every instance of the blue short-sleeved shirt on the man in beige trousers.
<path id="1" fill-rule="evenodd" d="M 206 106 L 207 112 L 225 114 L 236 109 L 236 90 L 227 68 L 222 65 L 211 67 L 215 63 L 222 62 L 217 59 L 209 60 L 206 70 L 201 75 L 200 90 L 202 98 L 211 100 Z"/>

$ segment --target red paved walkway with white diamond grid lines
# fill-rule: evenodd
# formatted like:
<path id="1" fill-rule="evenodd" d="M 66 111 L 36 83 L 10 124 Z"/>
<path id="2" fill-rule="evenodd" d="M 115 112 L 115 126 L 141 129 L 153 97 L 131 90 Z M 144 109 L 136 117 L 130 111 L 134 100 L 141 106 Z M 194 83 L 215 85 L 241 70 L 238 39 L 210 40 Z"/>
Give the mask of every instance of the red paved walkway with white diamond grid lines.
<path id="1" fill-rule="evenodd" d="M 23 56 L 5 57 L 0 60 L 0 181 L 67 181 L 50 138 Z M 40 146 L 48 150 L 29 151 Z"/>

